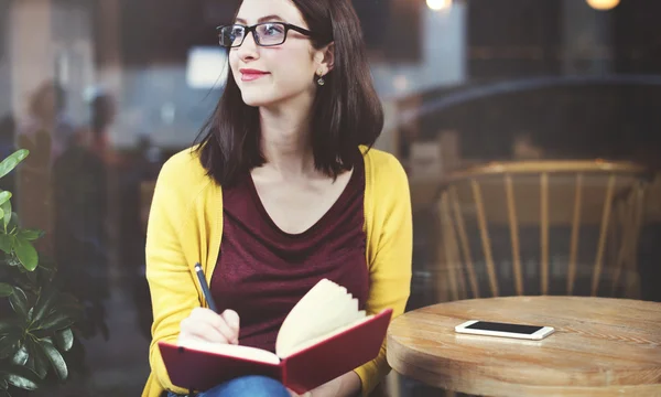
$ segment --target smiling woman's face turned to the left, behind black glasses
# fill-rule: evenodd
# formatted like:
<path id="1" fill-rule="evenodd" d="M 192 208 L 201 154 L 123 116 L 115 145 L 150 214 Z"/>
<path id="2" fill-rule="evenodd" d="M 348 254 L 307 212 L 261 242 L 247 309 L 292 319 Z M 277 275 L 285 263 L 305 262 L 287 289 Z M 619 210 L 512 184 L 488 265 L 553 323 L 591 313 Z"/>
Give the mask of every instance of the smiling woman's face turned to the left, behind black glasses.
<path id="1" fill-rule="evenodd" d="M 243 0 L 235 23 L 252 26 L 262 22 L 308 29 L 291 0 Z M 279 34 L 277 28 L 262 31 L 262 35 Z M 323 50 L 314 50 L 308 36 L 293 30 L 286 33 L 284 43 L 274 46 L 260 46 L 253 33 L 246 33 L 243 43 L 230 50 L 229 64 L 243 101 L 272 107 L 292 99 L 314 98 L 315 74 L 328 72 L 324 54 Z"/>

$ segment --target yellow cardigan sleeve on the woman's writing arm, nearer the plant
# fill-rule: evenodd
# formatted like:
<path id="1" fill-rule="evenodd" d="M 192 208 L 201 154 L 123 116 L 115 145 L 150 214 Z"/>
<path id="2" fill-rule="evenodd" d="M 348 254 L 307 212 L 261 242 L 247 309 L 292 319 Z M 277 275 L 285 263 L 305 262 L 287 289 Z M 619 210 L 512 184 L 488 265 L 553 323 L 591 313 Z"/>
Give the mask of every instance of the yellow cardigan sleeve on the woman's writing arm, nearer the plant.
<path id="1" fill-rule="evenodd" d="M 176 164 L 166 162 L 159 174 L 147 232 L 147 279 L 151 292 L 153 324 L 149 361 L 154 386 L 187 394 L 172 385 L 158 343 L 175 343 L 180 323 L 193 308 L 199 307 L 195 281 L 182 248 L 181 233 L 185 233 L 187 206 L 185 186 L 180 186 Z M 152 394 L 153 395 L 153 394 Z"/>

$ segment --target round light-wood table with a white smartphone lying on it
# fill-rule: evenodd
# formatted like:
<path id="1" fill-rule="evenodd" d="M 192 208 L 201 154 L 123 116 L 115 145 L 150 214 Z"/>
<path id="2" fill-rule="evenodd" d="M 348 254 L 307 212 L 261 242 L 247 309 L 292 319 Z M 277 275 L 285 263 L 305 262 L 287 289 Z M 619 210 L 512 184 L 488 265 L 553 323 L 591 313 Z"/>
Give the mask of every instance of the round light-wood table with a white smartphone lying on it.
<path id="1" fill-rule="evenodd" d="M 542 341 L 456 333 L 467 320 L 555 333 Z M 427 385 L 480 396 L 661 396 L 661 303 L 508 297 L 434 304 L 392 321 L 388 362 Z"/>

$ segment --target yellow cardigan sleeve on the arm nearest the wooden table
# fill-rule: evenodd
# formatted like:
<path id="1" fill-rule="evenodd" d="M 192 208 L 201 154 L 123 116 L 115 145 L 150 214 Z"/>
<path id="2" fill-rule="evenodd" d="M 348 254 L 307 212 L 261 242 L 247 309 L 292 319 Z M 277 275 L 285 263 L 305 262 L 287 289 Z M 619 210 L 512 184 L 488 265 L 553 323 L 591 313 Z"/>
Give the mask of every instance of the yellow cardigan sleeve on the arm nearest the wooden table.
<path id="1" fill-rule="evenodd" d="M 366 207 L 373 222 L 367 311 L 378 313 L 391 308 L 394 319 L 404 312 L 411 290 L 413 222 L 407 174 L 391 154 L 384 160 L 375 164 L 382 169 L 375 171 L 372 197 L 369 197 L 373 204 Z M 368 396 L 389 372 L 383 341 L 378 357 L 356 368 L 362 396 Z"/>

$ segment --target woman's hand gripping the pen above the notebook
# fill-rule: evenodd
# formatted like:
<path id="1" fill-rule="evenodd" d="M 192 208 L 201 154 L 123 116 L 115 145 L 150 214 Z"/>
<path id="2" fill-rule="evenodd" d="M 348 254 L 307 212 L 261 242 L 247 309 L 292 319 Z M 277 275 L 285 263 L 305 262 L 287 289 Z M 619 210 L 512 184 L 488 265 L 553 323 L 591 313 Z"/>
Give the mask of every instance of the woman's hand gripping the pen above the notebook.
<path id="1" fill-rule="evenodd" d="M 195 308 L 182 320 L 178 343 L 204 341 L 212 343 L 239 343 L 239 314 L 226 310 L 221 314 L 210 309 Z"/>

